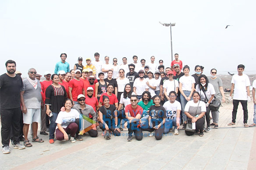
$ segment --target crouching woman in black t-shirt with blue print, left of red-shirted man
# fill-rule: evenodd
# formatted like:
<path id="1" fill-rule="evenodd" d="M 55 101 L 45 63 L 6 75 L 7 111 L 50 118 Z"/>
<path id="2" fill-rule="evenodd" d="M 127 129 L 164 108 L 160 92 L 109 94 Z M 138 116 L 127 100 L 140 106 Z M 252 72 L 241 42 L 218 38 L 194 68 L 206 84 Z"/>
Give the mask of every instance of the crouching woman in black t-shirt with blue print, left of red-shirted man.
<path id="1" fill-rule="evenodd" d="M 120 136 L 116 106 L 110 105 L 109 97 L 105 95 L 103 96 L 103 103 L 104 105 L 98 109 L 100 129 L 102 129 L 103 133 L 105 130 L 109 130 L 109 132 L 112 131 L 115 136 Z"/>

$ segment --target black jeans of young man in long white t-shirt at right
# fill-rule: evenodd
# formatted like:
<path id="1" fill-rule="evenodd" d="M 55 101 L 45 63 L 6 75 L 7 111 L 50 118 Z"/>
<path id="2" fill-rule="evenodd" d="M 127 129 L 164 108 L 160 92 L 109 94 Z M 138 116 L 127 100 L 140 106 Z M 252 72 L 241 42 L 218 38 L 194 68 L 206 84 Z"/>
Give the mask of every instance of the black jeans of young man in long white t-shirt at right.
<path id="1" fill-rule="evenodd" d="M 248 120 L 247 100 L 233 100 L 232 122 L 235 123 L 238 104 L 241 102 L 244 111 L 244 123 Z"/>

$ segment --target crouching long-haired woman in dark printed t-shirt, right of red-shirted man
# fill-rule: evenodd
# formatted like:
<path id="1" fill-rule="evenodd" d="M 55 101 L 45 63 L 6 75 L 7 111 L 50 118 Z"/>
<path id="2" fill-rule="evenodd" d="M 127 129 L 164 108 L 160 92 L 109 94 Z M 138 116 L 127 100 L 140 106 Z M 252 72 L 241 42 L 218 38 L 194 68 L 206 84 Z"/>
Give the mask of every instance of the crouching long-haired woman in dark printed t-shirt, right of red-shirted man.
<path id="1" fill-rule="evenodd" d="M 153 101 L 154 101 L 154 105 L 150 106 L 149 109 L 149 118 L 148 118 L 148 122 L 149 122 L 149 126 L 154 129 L 155 133 L 154 133 L 154 137 L 157 140 L 162 139 L 164 130 L 165 130 L 165 118 L 166 118 L 166 114 L 165 114 L 165 108 L 160 105 L 160 97 L 158 95 L 155 95 L 153 97 Z"/>

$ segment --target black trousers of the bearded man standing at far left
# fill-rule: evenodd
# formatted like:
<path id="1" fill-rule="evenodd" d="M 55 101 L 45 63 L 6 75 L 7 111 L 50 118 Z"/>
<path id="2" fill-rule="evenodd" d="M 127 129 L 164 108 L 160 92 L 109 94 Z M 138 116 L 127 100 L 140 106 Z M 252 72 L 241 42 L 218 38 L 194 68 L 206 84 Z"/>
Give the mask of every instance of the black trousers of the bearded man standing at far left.
<path id="1" fill-rule="evenodd" d="M 20 134 L 20 118 L 21 118 L 21 107 L 14 109 L 1 109 L 1 137 L 2 144 L 4 146 L 9 146 L 11 128 L 13 135 L 14 145 L 19 143 L 19 134 Z"/>

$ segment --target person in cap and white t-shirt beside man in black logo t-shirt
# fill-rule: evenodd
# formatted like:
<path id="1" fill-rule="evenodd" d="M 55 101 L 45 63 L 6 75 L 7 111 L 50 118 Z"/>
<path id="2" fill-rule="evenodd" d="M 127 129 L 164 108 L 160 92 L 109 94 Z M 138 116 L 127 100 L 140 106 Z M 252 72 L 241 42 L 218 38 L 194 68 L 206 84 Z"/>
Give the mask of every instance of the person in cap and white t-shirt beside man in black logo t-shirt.
<path id="1" fill-rule="evenodd" d="M 144 78 L 144 70 L 139 71 L 139 78 L 136 78 L 133 83 L 133 92 L 137 95 L 138 100 L 141 99 L 141 95 L 144 91 L 148 91 L 146 84 L 147 80 Z M 146 89 L 147 88 L 147 89 Z"/>

